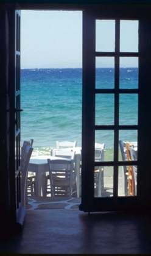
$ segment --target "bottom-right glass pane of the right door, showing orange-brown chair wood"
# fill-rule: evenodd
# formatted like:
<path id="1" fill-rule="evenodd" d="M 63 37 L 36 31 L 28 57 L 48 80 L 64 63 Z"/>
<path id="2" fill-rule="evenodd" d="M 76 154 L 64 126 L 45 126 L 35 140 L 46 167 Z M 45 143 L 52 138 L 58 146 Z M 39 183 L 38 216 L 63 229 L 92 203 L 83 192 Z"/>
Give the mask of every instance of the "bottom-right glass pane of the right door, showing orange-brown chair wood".
<path id="1" fill-rule="evenodd" d="M 118 196 L 137 195 L 137 166 L 119 166 Z"/>

